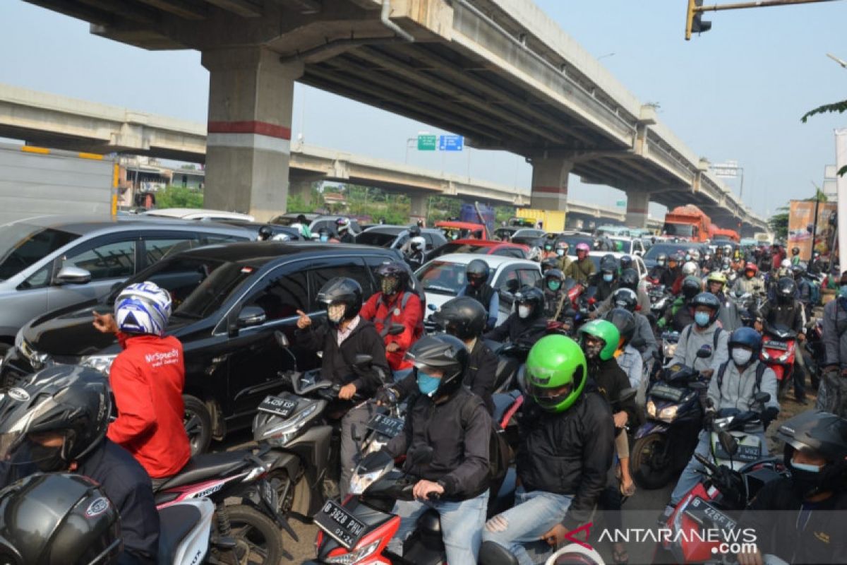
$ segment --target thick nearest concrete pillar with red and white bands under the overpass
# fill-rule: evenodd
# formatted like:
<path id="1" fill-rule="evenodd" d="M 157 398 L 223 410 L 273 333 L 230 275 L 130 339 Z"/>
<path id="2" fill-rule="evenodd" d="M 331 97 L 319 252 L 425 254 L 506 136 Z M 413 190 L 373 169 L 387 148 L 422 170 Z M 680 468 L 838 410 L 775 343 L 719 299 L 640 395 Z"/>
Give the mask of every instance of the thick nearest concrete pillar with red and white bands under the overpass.
<path id="1" fill-rule="evenodd" d="M 285 212 L 294 81 L 302 64 L 280 64 L 263 47 L 206 51 L 209 70 L 207 208 L 267 221 Z"/>

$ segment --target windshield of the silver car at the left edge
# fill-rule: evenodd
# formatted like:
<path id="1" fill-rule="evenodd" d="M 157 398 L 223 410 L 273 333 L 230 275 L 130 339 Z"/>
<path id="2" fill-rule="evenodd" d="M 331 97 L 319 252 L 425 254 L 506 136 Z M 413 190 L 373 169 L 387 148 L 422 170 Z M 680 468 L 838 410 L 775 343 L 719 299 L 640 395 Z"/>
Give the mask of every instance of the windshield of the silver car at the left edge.
<path id="1" fill-rule="evenodd" d="M 0 225 L 0 280 L 14 277 L 79 236 L 24 222 Z"/>

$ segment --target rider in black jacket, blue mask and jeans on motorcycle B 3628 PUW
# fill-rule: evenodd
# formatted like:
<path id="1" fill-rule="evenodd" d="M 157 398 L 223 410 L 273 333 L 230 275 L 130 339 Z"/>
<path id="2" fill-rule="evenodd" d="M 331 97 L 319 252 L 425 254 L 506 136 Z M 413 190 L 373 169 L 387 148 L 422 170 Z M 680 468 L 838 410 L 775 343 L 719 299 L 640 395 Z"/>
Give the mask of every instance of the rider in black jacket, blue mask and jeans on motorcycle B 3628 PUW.
<path id="1" fill-rule="evenodd" d="M 383 448 L 407 454 L 403 470 L 417 479 L 414 501 L 397 501 L 400 527 L 389 549 L 402 544 L 427 508 L 440 515 L 447 561 L 475 563 L 488 507 L 491 417 L 479 396 L 462 386 L 468 350 L 451 335 L 426 336 L 407 352 L 415 365 L 403 433 Z M 429 453 L 421 457 L 420 453 Z"/>

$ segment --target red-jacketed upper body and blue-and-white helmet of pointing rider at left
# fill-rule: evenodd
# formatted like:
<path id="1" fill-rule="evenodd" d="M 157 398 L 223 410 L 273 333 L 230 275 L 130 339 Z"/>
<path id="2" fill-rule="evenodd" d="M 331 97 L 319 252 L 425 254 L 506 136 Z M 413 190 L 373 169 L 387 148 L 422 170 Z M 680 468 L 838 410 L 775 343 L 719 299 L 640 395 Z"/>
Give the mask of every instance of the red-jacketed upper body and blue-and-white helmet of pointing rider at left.
<path id="1" fill-rule="evenodd" d="M 153 490 L 180 472 L 191 457 L 182 419 L 185 364 L 182 344 L 164 336 L 170 295 L 152 282 L 129 285 L 114 302 L 114 316 L 94 314 L 94 327 L 115 333 L 124 348 L 109 369 L 118 418 L 108 438 L 136 457 Z"/>

